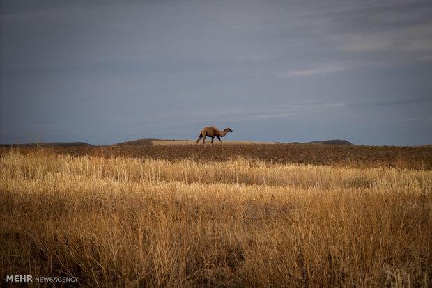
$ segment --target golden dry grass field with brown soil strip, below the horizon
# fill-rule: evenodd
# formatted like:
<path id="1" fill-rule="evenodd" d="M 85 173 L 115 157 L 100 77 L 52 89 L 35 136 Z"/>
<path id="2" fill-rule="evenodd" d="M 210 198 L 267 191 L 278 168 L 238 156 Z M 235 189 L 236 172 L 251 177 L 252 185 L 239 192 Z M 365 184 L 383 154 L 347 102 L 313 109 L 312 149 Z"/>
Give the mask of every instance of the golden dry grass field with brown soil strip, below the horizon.
<path id="1" fill-rule="evenodd" d="M 79 278 L 65 287 L 432 285 L 430 147 L 330 147 L 311 163 L 174 149 L 1 148 L 0 286 L 6 275 Z"/>

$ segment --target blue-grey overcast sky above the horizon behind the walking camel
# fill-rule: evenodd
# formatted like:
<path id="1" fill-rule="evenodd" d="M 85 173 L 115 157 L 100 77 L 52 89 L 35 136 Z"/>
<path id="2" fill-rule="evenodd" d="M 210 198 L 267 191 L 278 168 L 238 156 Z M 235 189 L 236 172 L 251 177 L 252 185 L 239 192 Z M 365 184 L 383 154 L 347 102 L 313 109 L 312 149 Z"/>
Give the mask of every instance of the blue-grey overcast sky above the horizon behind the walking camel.
<path id="1" fill-rule="evenodd" d="M 432 144 L 432 1 L 0 1 L 2 143 Z"/>

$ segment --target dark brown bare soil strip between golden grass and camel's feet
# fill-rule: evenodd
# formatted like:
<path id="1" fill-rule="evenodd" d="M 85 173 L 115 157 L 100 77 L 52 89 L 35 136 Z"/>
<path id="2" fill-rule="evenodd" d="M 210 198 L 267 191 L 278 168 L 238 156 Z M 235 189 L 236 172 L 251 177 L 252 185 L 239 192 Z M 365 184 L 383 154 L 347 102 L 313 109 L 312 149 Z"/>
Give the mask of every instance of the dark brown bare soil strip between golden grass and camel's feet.
<path id="1" fill-rule="evenodd" d="M 3 148 L 0 154 L 10 148 Z M 111 145 L 76 147 L 22 147 L 22 153 L 34 149 L 72 156 L 134 157 L 139 159 L 184 159 L 205 163 L 245 158 L 268 163 L 348 166 L 356 168 L 408 168 L 432 170 L 431 147 L 239 144 L 239 145 Z"/>

